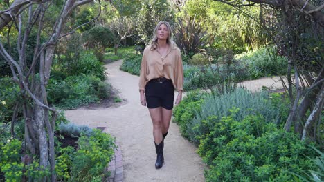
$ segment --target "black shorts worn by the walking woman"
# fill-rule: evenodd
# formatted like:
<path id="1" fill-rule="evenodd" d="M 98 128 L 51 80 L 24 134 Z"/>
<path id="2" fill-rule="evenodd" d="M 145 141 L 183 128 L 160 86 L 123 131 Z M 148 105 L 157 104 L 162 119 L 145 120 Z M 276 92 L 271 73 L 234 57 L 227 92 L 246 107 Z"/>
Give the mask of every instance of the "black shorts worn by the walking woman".
<path id="1" fill-rule="evenodd" d="M 172 110 L 174 101 L 174 86 L 170 79 L 152 79 L 145 86 L 147 108 L 163 107 Z"/>

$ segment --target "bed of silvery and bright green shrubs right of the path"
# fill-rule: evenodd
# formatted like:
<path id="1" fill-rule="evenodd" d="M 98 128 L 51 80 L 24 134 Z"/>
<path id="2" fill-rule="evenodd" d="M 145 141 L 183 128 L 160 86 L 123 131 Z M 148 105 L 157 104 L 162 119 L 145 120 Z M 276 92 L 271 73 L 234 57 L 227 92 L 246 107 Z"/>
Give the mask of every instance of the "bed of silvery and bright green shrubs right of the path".
<path id="1" fill-rule="evenodd" d="M 316 170 L 305 156 L 316 152 L 296 134 L 278 129 L 288 104 L 278 93 L 192 92 L 174 109 L 174 121 L 199 145 L 208 165 L 206 181 L 295 181 L 292 173 Z"/>

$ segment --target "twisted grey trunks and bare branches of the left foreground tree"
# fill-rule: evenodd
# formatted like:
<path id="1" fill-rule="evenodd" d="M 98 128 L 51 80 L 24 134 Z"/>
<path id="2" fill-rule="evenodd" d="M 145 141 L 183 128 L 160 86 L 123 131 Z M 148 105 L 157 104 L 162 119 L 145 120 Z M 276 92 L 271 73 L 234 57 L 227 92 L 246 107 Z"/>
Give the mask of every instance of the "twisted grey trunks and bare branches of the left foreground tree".
<path id="1" fill-rule="evenodd" d="M 52 1 L 15 0 L 12 2 L 12 5 L 8 10 L 0 12 L 0 30 L 3 30 L 3 27 L 12 22 L 13 19 L 19 19 L 19 14 L 28 14 L 28 21 L 21 21 L 21 19 L 19 19 L 19 25 L 17 26 L 19 32 L 17 40 L 19 60 L 15 61 L 12 56 L 8 54 L 8 51 L 1 43 L 1 37 L 0 54 L 10 65 L 13 78 L 19 84 L 21 95 L 24 99 L 22 102 L 22 110 L 25 118 L 24 137 L 26 149 L 28 149 L 31 154 L 39 156 L 39 165 L 43 167 L 43 170 L 51 168 L 51 181 L 53 182 L 56 181 L 54 153 L 56 111 L 53 108 L 48 107 L 45 87 L 50 78 L 51 65 L 57 39 L 60 39 L 66 20 L 70 17 L 75 8 L 90 3 L 91 1 L 93 0 L 64 1 L 65 3 L 64 7 L 62 7 L 60 17 L 57 17 L 55 25 L 53 26 L 53 33 L 49 35 L 48 41 L 46 41 L 42 46 L 39 46 L 39 37 L 40 34 L 43 33 L 43 17 L 46 10 L 48 10 L 48 7 L 52 5 Z M 36 6 L 37 8 L 34 9 Z M 30 30 L 35 26 L 38 26 L 38 28 L 35 28 L 35 30 L 38 29 L 37 46 L 34 50 L 33 63 L 30 65 L 30 68 L 28 68 L 28 65 L 25 63 L 27 40 L 30 36 Z M 10 44 L 10 42 L 8 44 Z M 34 71 L 37 61 L 40 61 L 40 82 L 37 80 L 37 77 L 35 77 Z M 29 72 L 26 70 L 29 70 Z M 32 102 L 31 105 L 28 104 L 30 101 Z M 49 121 L 49 111 L 53 112 L 52 122 Z M 13 123 L 14 122 L 12 122 L 12 128 Z M 14 133 L 14 131 L 11 132 Z M 42 181 L 46 181 L 46 179 L 42 179 Z"/>

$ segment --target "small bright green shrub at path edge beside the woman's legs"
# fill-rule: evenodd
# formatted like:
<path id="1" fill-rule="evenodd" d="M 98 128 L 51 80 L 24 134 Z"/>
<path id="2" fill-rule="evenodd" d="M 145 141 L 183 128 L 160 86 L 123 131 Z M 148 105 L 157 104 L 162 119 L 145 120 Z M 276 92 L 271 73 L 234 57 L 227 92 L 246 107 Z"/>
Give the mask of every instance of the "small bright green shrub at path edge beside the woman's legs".
<path id="1" fill-rule="evenodd" d="M 199 92 L 190 92 L 182 101 L 174 108 L 173 121 L 180 127 L 183 137 L 188 139 L 187 122 L 190 121 L 201 110 L 201 103 L 204 101 L 206 94 Z"/>

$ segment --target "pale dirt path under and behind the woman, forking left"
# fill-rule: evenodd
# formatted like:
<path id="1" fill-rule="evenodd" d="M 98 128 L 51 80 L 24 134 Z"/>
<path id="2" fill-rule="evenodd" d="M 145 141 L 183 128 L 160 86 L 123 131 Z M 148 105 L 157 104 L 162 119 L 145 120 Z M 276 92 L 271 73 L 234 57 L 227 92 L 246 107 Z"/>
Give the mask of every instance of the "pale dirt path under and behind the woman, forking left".
<path id="1" fill-rule="evenodd" d="M 123 155 L 124 182 L 199 182 L 204 181 L 204 166 L 196 154 L 197 148 L 179 133 L 176 124 L 170 124 L 165 139 L 163 168 L 156 170 L 152 122 L 147 108 L 139 102 L 138 77 L 119 70 L 121 61 L 105 65 L 109 83 L 127 99 L 117 108 L 80 108 L 65 112 L 69 121 L 89 125 L 91 128 L 107 127 L 105 132 L 116 136 Z"/>

